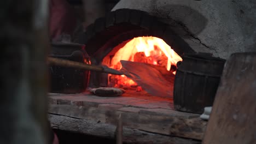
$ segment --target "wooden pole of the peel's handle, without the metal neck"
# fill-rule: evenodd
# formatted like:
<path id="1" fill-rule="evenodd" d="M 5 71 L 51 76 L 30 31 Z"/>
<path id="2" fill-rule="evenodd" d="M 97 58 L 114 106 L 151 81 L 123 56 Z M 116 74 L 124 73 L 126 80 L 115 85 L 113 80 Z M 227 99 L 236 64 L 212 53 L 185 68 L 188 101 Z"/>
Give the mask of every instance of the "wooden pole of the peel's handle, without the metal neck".
<path id="1" fill-rule="evenodd" d="M 54 58 L 54 57 L 48 57 L 48 61 L 51 65 L 104 72 L 103 67 L 98 65 L 89 65 L 85 63 L 68 61 L 66 59 Z"/>

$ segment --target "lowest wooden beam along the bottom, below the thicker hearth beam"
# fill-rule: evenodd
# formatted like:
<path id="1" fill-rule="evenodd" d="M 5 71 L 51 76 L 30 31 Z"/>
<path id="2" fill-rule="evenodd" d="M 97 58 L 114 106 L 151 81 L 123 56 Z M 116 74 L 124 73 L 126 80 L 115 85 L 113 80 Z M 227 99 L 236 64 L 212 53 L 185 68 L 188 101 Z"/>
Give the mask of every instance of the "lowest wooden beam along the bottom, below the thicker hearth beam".
<path id="1" fill-rule="evenodd" d="M 107 137 L 115 139 L 115 125 L 101 122 L 89 121 L 67 116 L 49 114 L 51 126 L 54 129 L 74 131 L 86 135 Z M 179 137 L 166 136 L 154 133 L 148 133 L 138 129 L 123 128 L 123 142 L 125 143 L 159 143 L 159 144 L 199 144 L 200 141 L 183 139 Z"/>

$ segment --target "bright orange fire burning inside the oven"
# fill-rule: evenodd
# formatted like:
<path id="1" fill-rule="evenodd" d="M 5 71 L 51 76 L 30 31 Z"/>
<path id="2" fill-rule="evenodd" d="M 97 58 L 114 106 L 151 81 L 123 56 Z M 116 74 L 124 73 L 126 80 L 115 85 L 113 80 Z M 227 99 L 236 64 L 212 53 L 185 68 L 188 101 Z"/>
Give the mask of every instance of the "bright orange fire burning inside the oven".
<path id="1" fill-rule="evenodd" d="M 120 70 L 121 60 L 141 62 L 165 67 L 176 73 L 176 63 L 182 58 L 167 45 L 164 40 L 156 37 L 137 37 L 118 45 L 119 50 L 103 59 L 102 64 Z M 110 57 L 110 58 L 109 58 Z M 137 83 L 125 75 L 108 75 L 110 87 L 137 88 Z"/>

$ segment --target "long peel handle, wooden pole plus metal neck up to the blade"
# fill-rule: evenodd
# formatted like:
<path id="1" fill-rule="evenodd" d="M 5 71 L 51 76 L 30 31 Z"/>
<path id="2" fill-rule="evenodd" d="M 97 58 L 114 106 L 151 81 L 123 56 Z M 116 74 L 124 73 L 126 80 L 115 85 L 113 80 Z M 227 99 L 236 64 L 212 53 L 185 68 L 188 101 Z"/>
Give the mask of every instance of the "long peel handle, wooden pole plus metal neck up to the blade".
<path id="1" fill-rule="evenodd" d="M 108 68 L 107 66 L 102 66 L 102 65 L 89 65 L 85 63 L 68 61 L 66 59 L 54 58 L 54 57 L 48 57 L 48 62 L 50 65 L 58 65 L 60 67 L 77 68 L 77 69 L 84 69 L 84 70 L 99 71 L 102 73 L 108 73 L 108 74 L 114 74 L 114 75 L 123 75 L 123 73 L 121 73 L 118 70 Z"/>

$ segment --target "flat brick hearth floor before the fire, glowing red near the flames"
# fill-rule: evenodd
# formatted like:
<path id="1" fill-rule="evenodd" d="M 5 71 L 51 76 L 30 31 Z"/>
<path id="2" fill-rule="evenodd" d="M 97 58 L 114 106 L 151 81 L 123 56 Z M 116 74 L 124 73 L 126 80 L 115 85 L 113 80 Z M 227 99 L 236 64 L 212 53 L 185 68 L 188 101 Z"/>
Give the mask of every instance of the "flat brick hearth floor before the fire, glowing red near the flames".
<path id="1" fill-rule="evenodd" d="M 121 107 L 138 107 L 144 109 L 173 110 L 173 99 L 149 95 L 147 92 L 126 91 L 120 97 L 99 97 L 89 92 L 78 94 L 49 93 L 50 104 L 67 104 L 77 106 L 107 106 L 114 109 Z"/>

